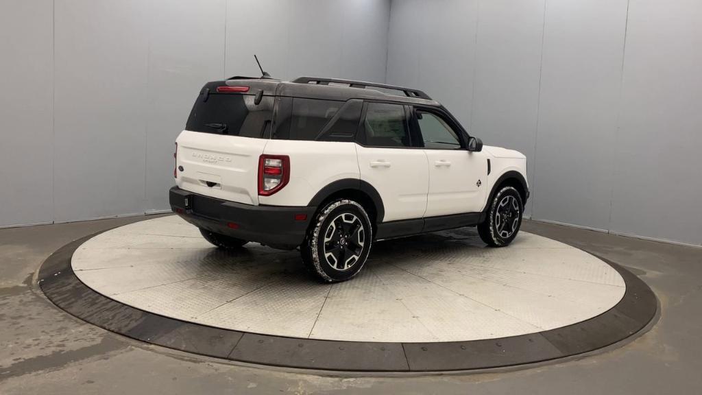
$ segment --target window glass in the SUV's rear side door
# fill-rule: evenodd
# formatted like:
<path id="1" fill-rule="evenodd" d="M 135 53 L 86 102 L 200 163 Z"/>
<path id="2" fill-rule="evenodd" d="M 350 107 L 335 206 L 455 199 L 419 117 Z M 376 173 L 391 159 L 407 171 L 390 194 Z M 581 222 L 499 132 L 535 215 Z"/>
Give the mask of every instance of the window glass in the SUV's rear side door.
<path id="1" fill-rule="evenodd" d="M 361 143 L 371 147 L 411 147 L 404 106 L 368 103 Z"/>

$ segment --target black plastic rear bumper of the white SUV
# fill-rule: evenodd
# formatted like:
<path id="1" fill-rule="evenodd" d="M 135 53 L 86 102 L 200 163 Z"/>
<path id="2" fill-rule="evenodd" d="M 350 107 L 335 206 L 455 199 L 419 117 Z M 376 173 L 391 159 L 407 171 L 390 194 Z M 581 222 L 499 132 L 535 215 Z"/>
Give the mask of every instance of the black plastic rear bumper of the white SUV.
<path id="1" fill-rule="evenodd" d="M 187 205 L 185 204 L 187 198 Z M 171 209 L 185 221 L 208 231 L 272 247 L 293 248 L 305 238 L 317 207 L 244 205 L 174 186 L 168 193 Z M 304 214 L 305 219 L 296 219 Z"/>

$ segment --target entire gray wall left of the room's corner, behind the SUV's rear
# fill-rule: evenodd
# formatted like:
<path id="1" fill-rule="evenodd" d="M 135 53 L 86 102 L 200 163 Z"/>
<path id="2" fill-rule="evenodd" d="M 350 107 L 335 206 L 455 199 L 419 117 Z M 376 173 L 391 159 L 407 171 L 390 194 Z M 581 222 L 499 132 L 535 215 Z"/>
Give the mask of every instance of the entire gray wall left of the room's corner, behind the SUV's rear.
<path id="1" fill-rule="evenodd" d="M 0 4 L 0 226 L 168 209 L 199 88 L 258 76 L 254 53 L 283 79 L 385 81 L 389 0 L 52 3 Z"/>

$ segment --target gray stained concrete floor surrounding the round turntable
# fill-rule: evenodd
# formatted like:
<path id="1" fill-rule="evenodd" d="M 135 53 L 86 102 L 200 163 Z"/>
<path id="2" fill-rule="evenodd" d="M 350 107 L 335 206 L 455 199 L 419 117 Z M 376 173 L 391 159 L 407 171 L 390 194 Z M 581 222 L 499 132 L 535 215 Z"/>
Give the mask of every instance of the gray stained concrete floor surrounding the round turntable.
<path id="1" fill-rule="evenodd" d="M 618 349 L 515 371 L 314 375 L 141 344 L 55 308 L 34 274 L 67 242 L 144 217 L 0 229 L 0 394 L 699 394 L 702 249 L 525 221 L 524 230 L 627 266 L 661 301 L 659 322 Z"/>

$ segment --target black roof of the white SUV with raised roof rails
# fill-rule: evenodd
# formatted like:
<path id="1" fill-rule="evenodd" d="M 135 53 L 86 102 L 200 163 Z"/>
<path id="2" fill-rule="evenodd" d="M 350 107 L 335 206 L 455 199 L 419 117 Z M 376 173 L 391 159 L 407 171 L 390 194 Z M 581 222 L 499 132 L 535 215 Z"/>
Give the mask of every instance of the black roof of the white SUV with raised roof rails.
<path id="1" fill-rule="evenodd" d="M 291 82 L 282 82 L 279 79 L 237 76 L 227 79 L 226 81 L 209 82 L 205 85 L 205 88 L 211 89 L 211 92 L 214 93 L 216 86 L 223 85 L 249 86 L 249 93 L 256 93 L 256 91 L 263 89 L 263 94 L 270 96 L 291 96 L 338 101 L 359 98 L 396 101 L 409 104 L 439 105 L 437 101 L 434 101 L 426 93 L 418 89 L 350 79 L 298 77 Z"/>

